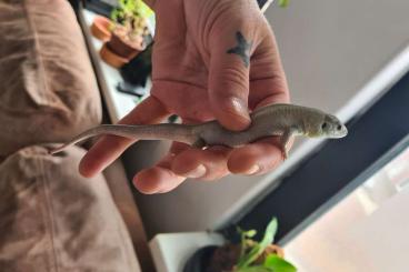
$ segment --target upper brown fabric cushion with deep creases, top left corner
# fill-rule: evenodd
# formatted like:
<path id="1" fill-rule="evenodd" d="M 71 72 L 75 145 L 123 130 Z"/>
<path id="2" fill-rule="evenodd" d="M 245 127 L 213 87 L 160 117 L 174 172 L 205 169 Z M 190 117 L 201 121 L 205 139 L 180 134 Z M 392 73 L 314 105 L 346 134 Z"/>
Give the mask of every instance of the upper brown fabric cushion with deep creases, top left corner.
<path id="1" fill-rule="evenodd" d="M 101 103 L 66 0 L 0 0 L 0 157 L 96 125 Z"/>

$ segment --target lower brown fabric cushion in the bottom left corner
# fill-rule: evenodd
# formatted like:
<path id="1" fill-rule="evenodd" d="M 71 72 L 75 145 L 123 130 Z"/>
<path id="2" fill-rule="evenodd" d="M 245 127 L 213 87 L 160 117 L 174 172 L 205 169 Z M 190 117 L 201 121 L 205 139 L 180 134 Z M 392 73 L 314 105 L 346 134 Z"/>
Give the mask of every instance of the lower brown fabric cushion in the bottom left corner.
<path id="1" fill-rule="evenodd" d="M 106 180 L 78 174 L 83 153 L 30 147 L 0 164 L 0 271 L 140 271 Z"/>

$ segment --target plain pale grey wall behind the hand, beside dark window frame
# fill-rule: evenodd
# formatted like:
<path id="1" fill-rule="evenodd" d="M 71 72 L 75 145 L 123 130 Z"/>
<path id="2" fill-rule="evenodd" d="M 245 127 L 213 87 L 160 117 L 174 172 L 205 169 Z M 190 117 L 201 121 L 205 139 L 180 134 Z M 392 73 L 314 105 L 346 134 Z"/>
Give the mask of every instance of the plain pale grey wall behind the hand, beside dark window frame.
<path id="1" fill-rule="evenodd" d="M 292 101 L 337 112 L 408 44 L 408 0 L 291 0 L 287 9 L 270 7 L 266 16 L 277 34 Z M 150 233 L 211 229 L 261 179 L 186 182 L 168 194 L 141 195 L 138 204 Z"/>

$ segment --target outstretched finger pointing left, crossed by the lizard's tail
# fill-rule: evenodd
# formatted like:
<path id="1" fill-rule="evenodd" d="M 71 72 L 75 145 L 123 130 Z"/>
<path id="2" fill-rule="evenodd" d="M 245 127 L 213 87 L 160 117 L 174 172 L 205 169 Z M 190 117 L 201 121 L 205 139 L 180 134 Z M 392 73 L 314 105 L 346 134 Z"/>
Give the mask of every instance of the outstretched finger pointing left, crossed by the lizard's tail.
<path id="1" fill-rule="evenodd" d="M 148 124 L 158 123 L 169 115 L 164 105 L 153 97 L 147 98 L 119 123 Z M 90 178 L 111 164 L 136 140 L 121 137 L 102 137 L 82 158 L 79 171 Z"/>

